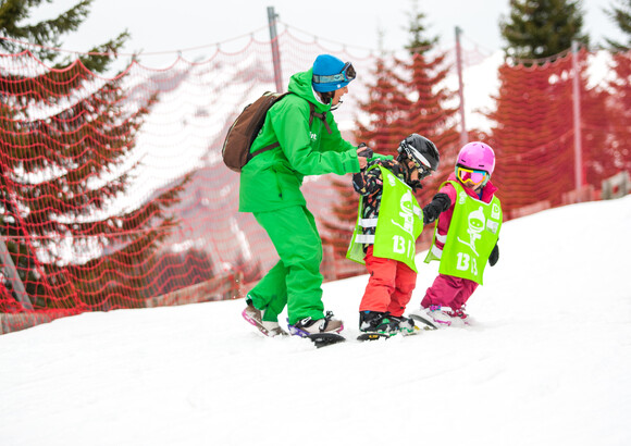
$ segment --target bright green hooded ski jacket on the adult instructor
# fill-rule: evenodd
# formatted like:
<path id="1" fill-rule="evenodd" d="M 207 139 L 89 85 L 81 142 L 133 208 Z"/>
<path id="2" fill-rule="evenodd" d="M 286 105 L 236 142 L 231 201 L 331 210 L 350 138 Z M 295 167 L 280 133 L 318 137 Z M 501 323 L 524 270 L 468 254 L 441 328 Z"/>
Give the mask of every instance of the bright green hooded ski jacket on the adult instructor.
<path id="1" fill-rule="evenodd" d="M 294 95 L 287 95 L 268 111 L 250 152 L 276 141 L 280 147 L 253 157 L 243 168 L 240 212 L 306 206 L 300 191 L 305 176 L 359 172 L 357 148 L 342 138 L 331 106 L 316 99 L 311 78 L 311 70 L 293 75 L 288 90 Z M 314 117 L 309 126 L 309 102 L 316 106 L 316 113 L 324 113 L 326 125 Z"/>

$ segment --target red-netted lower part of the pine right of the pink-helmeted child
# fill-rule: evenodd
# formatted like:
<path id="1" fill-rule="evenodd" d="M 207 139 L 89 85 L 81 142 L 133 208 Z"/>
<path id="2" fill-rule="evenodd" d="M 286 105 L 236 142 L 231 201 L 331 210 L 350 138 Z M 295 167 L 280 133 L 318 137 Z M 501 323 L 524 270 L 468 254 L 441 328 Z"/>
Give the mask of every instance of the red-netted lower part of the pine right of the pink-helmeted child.
<path id="1" fill-rule="evenodd" d="M 505 215 L 537 201 L 555 200 L 573 188 L 571 82 L 549 84 L 571 70 L 569 57 L 546 67 L 499 67 L 496 110 L 490 119 L 496 166 L 493 184 L 499 188 Z M 570 154 L 570 157 L 568 157 Z M 521 211 L 519 211 L 521 212 Z"/>

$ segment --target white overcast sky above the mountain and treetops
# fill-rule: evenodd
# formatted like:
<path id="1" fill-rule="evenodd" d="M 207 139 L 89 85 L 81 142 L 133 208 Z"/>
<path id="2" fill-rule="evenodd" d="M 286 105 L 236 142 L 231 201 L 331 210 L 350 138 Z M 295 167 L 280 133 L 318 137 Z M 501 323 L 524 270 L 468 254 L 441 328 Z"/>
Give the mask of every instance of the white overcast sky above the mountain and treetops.
<path id="1" fill-rule="evenodd" d="M 620 39 L 621 35 L 605 15 L 614 0 L 583 0 L 584 29 L 593 44 L 604 42 L 604 37 Z M 55 0 L 53 5 L 42 5 L 37 17 L 61 11 L 76 0 Z M 463 40 L 477 45 L 483 52 L 502 48 L 498 21 L 508 12 L 508 0 L 442 0 L 419 1 L 426 14 L 425 24 L 431 35 L 440 36 L 442 45 L 453 47 L 455 26 L 463 30 Z M 259 40 L 269 40 L 268 7 L 274 7 L 281 22 L 304 32 L 350 47 L 376 49 L 379 29 L 384 33 L 384 47 L 400 50 L 408 42 L 407 13 L 410 0 L 95 0 L 89 18 L 79 33 L 65 41 L 65 49 L 86 51 L 90 45 L 106 41 L 127 28 L 132 40 L 128 52 L 164 52 L 226 42 L 257 32 Z M 284 29 L 280 25 L 279 32 Z M 243 45 L 243 44 L 242 44 Z M 230 48 L 223 44 L 223 48 Z M 190 57 L 214 49 L 184 52 Z M 143 57 L 145 65 L 168 66 L 175 55 Z"/>

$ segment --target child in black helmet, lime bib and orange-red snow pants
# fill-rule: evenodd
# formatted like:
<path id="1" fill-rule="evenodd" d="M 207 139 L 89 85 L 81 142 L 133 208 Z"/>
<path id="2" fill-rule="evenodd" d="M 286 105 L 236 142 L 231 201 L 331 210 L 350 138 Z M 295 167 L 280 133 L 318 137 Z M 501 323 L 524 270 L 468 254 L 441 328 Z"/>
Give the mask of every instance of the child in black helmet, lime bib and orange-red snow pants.
<path id="1" fill-rule="evenodd" d="M 415 245 L 423 224 L 413 191 L 438 168 L 434 144 L 412 134 L 396 161 L 369 161 L 352 176 L 360 195 L 358 221 L 347 257 L 366 263 L 370 278 L 359 306 L 359 330 L 391 336 L 412 332 L 404 317 L 417 283 Z"/>

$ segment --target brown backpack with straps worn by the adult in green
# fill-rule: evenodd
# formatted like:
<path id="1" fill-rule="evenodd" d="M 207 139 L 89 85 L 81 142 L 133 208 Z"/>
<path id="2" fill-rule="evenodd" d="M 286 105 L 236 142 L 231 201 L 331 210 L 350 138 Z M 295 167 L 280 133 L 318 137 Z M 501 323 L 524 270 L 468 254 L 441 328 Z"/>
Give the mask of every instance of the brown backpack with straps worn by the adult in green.
<path id="1" fill-rule="evenodd" d="M 267 152 L 268 150 L 275 149 L 280 146 L 279 143 L 274 143 L 270 146 L 260 148 L 255 153 L 250 153 L 250 147 L 252 146 L 255 138 L 259 135 L 259 132 L 265 122 L 268 110 L 270 110 L 274 103 L 289 94 L 289 91 L 265 91 L 259 99 L 246 106 L 244 111 L 237 116 L 233 125 L 227 131 L 227 135 L 223 141 L 221 154 L 225 165 L 235 172 L 240 172 L 243 166 L 246 165 L 247 162 L 253 157 Z M 316 116 L 324 122 L 326 129 L 329 133 L 331 133 L 329 124 L 326 123 L 326 114 L 316 113 L 316 107 L 311 102 L 309 102 L 309 126 L 311 126 L 313 117 Z"/>

